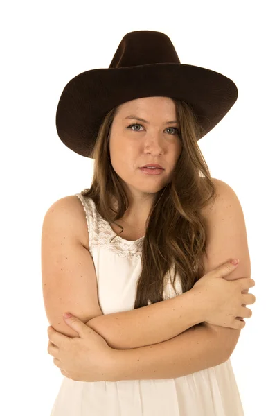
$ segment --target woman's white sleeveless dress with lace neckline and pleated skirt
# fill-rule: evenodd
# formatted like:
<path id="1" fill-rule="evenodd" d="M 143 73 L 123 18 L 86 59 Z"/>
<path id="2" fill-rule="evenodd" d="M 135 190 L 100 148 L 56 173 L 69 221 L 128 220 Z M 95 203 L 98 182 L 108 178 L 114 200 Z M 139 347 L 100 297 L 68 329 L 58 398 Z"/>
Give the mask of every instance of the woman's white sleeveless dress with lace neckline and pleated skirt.
<path id="1" fill-rule="evenodd" d="M 117 236 L 109 243 L 116 233 L 91 198 L 76 195 L 86 212 L 102 313 L 130 311 L 141 274 L 144 237 L 127 241 Z M 180 282 L 176 289 L 182 293 Z M 168 283 L 163 299 L 174 296 Z M 64 377 L 51 416 L 244 416 L 244 412 L 229 359 L 177 379 L 87 382 Z"/>

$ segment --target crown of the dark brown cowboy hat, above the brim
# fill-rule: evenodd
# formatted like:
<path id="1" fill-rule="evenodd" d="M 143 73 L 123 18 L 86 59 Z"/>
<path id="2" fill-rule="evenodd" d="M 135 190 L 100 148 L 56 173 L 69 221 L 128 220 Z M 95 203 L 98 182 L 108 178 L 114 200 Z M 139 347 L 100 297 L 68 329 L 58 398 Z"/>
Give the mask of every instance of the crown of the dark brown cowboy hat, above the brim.
<path id="1" fill-rule="evenodd" d="M 170 38 L 157 31 L 134 31 L 123 37 L 109 68 L 166 63 L 180 63 Z"/>

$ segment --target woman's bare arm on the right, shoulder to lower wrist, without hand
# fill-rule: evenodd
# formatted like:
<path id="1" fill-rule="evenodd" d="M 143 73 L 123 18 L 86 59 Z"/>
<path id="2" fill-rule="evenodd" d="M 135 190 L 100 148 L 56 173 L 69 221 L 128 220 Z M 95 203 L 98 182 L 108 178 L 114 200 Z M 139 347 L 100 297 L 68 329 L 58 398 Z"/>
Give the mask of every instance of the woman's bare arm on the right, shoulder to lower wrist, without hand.
<path id="1" fill-rule="evenodd" d="M 251 264 L 242 207 L 228 184 L 215 180 L 219 196 L 206 222 L 205 274 L 228 259 L 240 265 L 228 280 L 250 277 Z M 115 349 L 114 380 L 168 379 L 224 363 L 238 343 L 240 329 L 202 322 L 161 343 L 133 349 Z"/>

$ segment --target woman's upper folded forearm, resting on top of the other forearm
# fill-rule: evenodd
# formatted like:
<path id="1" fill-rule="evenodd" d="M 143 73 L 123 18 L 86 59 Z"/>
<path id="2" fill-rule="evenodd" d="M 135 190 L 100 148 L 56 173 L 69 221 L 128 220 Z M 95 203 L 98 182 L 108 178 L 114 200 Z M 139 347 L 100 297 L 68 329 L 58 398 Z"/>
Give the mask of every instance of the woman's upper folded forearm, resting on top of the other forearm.
<path id="1" fill-rule="evenodd" d="M 86 324 L 114 349 L 131 349 L 161 343 L 204 322 L 204 306 L 190 290 L 168 300 L 131 311 L 109 313 Z"/>

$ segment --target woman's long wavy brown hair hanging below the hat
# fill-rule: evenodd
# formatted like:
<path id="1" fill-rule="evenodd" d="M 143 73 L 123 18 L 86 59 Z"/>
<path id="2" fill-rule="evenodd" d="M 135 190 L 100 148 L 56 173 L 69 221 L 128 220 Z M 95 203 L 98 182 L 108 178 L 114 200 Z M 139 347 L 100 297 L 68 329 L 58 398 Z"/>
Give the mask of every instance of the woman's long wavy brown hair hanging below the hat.
<path id="1" fill-rule="evenodd" d="M 178 272 L 183 293 L 204 275 L 206 231 L 202 209 L 215 200 L 216 188 L 197 144 L 202 128 L 192 107 L 184 101 L 172 101 L 179 124 L 181 155 L 172 180 L 155 195 L 146 222 L 134 309 L 147 306 L 148 300 L 152 304 L 163 300 L 164 277 L 171 268 L 173 288 Z M 109 153 L 111 123 L 117 112 L 118 107 L 114 107 L 102 121 L 96 144 L 91 148 L 91 157 L 95 159 L 93 181 L 81 193 L 93 199 L 102 218 L 123 231 L 116 220 L 123 217 L 129 204 L 123 180 L 114 171 Z M 114 198 L 117 209 L 112 203 Z"/>

